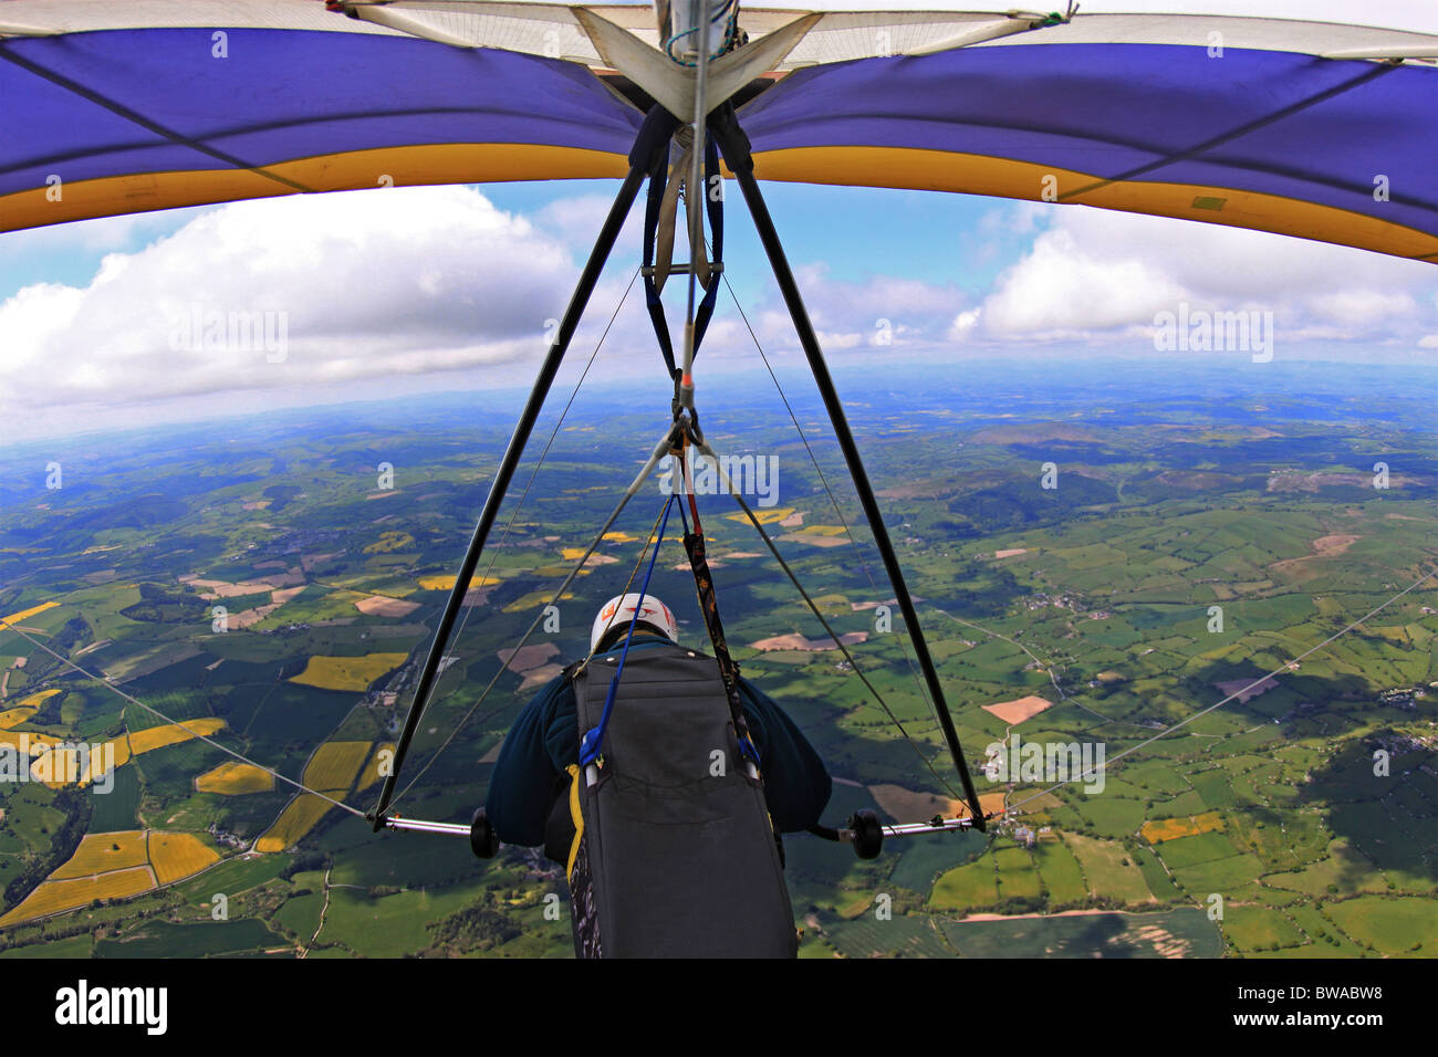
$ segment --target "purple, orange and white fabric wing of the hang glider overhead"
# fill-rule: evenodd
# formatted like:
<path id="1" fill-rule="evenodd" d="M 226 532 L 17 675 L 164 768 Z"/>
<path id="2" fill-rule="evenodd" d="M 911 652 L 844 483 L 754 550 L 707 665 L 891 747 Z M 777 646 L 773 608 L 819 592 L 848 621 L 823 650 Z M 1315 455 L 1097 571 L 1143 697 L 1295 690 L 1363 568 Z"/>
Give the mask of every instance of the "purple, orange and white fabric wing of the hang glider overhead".
<path id="1" fill-rule="evenodd" d="M 1438 36 L 743 9 L 759 180 L 1183 217 L 1438 260 Z M 695 70 L 636 4 L 7 0 L 0 232 L 302 191 L 621 178 Z"/>

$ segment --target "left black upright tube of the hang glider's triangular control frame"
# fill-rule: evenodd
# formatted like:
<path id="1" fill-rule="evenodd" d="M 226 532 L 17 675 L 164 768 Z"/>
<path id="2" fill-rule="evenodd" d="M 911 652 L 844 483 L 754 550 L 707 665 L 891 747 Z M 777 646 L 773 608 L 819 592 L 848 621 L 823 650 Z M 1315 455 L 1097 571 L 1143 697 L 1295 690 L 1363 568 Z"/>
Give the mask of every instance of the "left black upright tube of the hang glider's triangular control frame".
<path id="1" fill-rule="evenodd" d="M 408 751 L 414 732 L 420 725 L 420 716 L 424 713 L 424 706 L 429 703 L 430 692 L 434 689 L 440 660 L 444 657 L 444 649 L 449 646 L 450 634 L 454 630 L 454 621 L 463 608 L 464 595 L 469 591 L 469 581 L 475 575 L 475 568 L 479 565 L 479 555 L 485 549 L 485 542 L 489 539 L 490 529 L 495 526 L 499 508 L 505 502 L 505 493 L 509 490 L 509 482 L 513 479 L 515 469 L 519 466 L 519 459 L 525 453 L 525 444 L 529 443 L 529 434 L 533 431 L 535 421 L 539 417 L 539 410 L 544 407 L 545 397 L 549 394 L 549 387 L 554 384 L 554 378 L 559 372 L 559 364 L 564 362 L 564 354 L 568 351 L 569 341 L 574 338 L 574 331 L 580 325 L 580 318 L 584 315 L 584 309 L 590 303 L 590 295 L 594 293 L 594 286 L 598 283 L 600 273 L 604 270 L 610 252 L 614 249 L 614 242 L 618 239 L 620 229 L 628 217 L 634 198 L 638 197 L 638 188 L 643 186 L 650 170 L 653 170 L 659 152 L 669 150 L 669 141 L 677 125 L 677 118 L 670 115 L 664 108 L 654 106 L 646 116 L 644 124 L 640 128 L 638 138 L 634 141 L 634 148 L 630 151 L 628 175 L 624 177 L 624 184 L 614 197 L 614 204 L 610 207 L 610 214 L 604 220 L 604 227 L 600 230 L 600 236 L 594 242 L 594 249 L 590 250 L 590 259 L 584 265 L 580 282 L 575 285 L 574 295 L 569 298 L 569 305 L 565 308 L 564 318 L 559 321 L 559 331 L 555 335 L 554 344 L 549 347 L 548 355 L 545 355 L 544 364 L 539 367 L 539 377 L 535 378 L 533 388 L 529 391 L 529 400 L 525 403 L 519 421 L 515 424 L 515 431 L 509 437 L 509 446 L 505 449 L 505 456 L 499 462 L 499 469 L 495 470 L 495 480 L 489 486 L 485 508 L 479 515 L 479 522 L 475 525 L 475 535 L 469 541 L 469 549 L 464 552 L 464 561 L 459 568 L 459 575 L 454 577 L 454 587 L 450 590 L 449 601 L 444 604 L 444 614 L 440 617 L 439 627 L 434 630 L 434 641 L 430 643 L 429 656 L 424 659 L 424 667 L 420 672 L 420 682 L 414 687 L 414 699 L 410 702 L 410 712 L 404 718 L 404 729 L 400 733 L 400 741 L 394 749 L 394 767 L 384 779 L 384 788 L 380 791 L 380 804 L 371 815 L 375 833 L 383 830 L 387 824 L 384 813 L 385 808 L 390 807 L 390 800 L 394 797 L 394 787 L 400 778 L 400 768 L 404 767 L 404 755 Z"/>

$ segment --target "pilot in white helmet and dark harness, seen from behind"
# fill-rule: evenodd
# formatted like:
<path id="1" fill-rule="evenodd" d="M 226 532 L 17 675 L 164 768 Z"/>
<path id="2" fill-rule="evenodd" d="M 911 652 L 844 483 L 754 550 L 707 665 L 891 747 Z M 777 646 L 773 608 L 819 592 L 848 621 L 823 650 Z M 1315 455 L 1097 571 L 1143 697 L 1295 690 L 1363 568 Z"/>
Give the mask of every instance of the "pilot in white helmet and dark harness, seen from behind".
<path id="1" fill-rule="evenodd" d="M 792 956 L 779 834 L 818 825 L 831 781 L 784 709 L 735 682 L 742 723 L 670 608 L 624 594 L 505 738 L 485 813 L 565 866 L 581 956 Z M 581 767 L 585 735 L 603 745 Z"/>

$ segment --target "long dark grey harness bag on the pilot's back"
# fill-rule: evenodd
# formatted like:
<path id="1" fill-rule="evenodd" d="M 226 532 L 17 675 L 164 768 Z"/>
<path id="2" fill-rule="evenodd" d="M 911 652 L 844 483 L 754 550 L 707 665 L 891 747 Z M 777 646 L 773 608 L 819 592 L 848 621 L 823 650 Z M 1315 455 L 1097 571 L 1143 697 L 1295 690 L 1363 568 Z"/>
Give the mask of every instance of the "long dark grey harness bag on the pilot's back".
<path id="1" fill-rule="evenodd" d="M 574 680 L 580 735 L 617 667 Z M 794 912 L 764 788 L 745 769 L 719 664 L 651 646 L 624 664 L 598 781 L 572 771 L 568 874 L 591 958 L 792 958 Z"/>

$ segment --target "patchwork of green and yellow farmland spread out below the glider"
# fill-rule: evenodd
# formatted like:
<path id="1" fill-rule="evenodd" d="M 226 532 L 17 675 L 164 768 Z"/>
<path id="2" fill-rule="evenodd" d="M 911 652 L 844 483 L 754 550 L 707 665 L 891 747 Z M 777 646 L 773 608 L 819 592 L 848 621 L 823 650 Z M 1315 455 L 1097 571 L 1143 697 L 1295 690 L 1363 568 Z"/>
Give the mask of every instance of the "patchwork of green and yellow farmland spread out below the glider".
<path id="1" fill-rule="evenodd" d="M 903 372 L 846 383 L 873 390 L 858 393 L 853 424 L 971 765 L 1015 736 L 1103 746 L 1110 764 L 1090 791 L 978 775 L 984 794 L 1007 794 L 1020 814 L 995 815 L 988 834 L 892 838 L 873 861 L 787 836 L 805 956 L 1434 955 L 1438 614 L 1424 613 L 1431 592 L 1393 595 L 1438 559 L 1438 434 L 1431 401 L 1402 371 L 1375 368 L 1372 391 L 1356 398 L 1329 367 L 1245 375 L 1251 391 L 1199 368 L 1185 370 L 1201 384 L 1127 365 L 1117 388 L 1064 368 L 1051 398 L 1032 406 L 1008 378 L 925 381 L 903 400 L 887 388 Z M 532 693 L 500 669 L 523 623 L 506 608 L 528 611 L 558 587 L 564 552 L 588 544 L 628 485 L 634 467 L 607 446 L 653 444 L 634 393 L 585 395 L 592 401 L 575 404 L 574 430 L 558 434 L 513 525 L 486 551 L 485 597 L 450 644 L 454 663 L 406 764 L 406 781 L 427 768 L 398 807 L 407 815 L 466 823 L 485 801 L 487 754 Z M 892 590 L 858 508 L 847 488 L 834 493 L 841 509 L 831 506 L 833 475 L 821 480 L 782 404 L 731 395 L 731 407 L 716 398 L 706 410 L 715 436 L 779 453 L 779 505 L 802 526 L 784 526 L 778 546 L 834 628 L 866 636 L 853 654 L 915 745 L 837 651 L 756 646 L 827 633 L 752 529 L 728 518 L 725 498 L 703 496 L 733 654 L 841 779 L 825 824 L 857 810 L 928 817 L 935 808 L 920 807 L 942 801 L 925 795 L 952 795 L 951 768 L 912 644 L 866 608 Z M 75 486 L 43 496 L 33 466 L 50 456 L 0 447 L 0 616 L 55 603 L 24 617 L 26 634 L 99 673 L 68 670 L 0 630 L 10 673 L 0 712 L 58 692 L 33 713 L 10 713 L 3 733 L 128 743 L 206 719 L 216 742 L 289 778 L 325 742 L 393 742 L 509 429 L 473 401 L 404 408 L 316 410 L 283 426 L 257 416 L 223 437 L 139 430 L 93 446 Z M 808 397 L 795 410 L 804 423 L 823 417 Z M 838 459 L 824 430 L 814 439 L 821 463 Z M 1368 486 L 1378 459 L 1401 486 Z M 403 470 L 394 495 L 375 490 L 381 460 Z M 1038 486 L 1045 462 L 1061 467 L 1058 489 Z M 636 496 L 614 525 L 623 535 L 600 546 L 613 561 L 574 581 L 559 633 L 532 640 L 555 647 L 545 663 L 582 653 L 659 499 Z M 856 526 L 857 551 L 841 523 Z M 682 561 L 677 539 L 666 541 L 653 592 L 682 610 L 683 641 L 703 646 Z M 229 610 L 226 631 L 211 623 L 217 604 Z M 1222 608 L 1221 628 L 1211 607 Z M 374 670 L 331 680 L 347 689 L 296 682 L 377 654 Z M 1273 686 L 1237 699 L 1235 687 L 1270 672 Z M 1035 695 L 1051 708 L 1017 723 L 984 708 Z M 1378 751 L 1391 758 L 1383 777 Z M 229 759 L 187 739 L 135 755 L 105 795 L 0 782 L 3 910 L 85 834 L 183 831 L 226 856 L 167 890 L 78 907 L 43 928 L 6 926 L 0 953 L 289 956 L 319 929 L 326 884 L 309 956 L 568 952 L 568 907 L 558 922 L 541 913 L 544 896 L 562 890 L 558 874 L 519 850 L 485 863 L 463 840 L 377 836 L 332 810 L 286 850 L 247 854 L 293 788 L 197 791 L 196 777 Z M 899 787 L 899 800 L 881 798 L 880 785 Z M 336 795 L 365 811 L 375 794 Z M 1195 815 L 1217 828 L 1183 834 Z M 1145 824 L 1158 820 L 1175 830 L 1150 844 Z M 1037 831 L 1032 847 L 1021 825 Z M 894 899 L 890 920 L 871 913 L 879 893 Z M 1204 913 L 1214 894 L 1227 907 L 1219 922 Z M 210 920 L 216 896 L 229 900 L 229 922 Z M 959 920 L 971 915 L 1008 920 Z"/>

